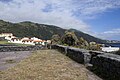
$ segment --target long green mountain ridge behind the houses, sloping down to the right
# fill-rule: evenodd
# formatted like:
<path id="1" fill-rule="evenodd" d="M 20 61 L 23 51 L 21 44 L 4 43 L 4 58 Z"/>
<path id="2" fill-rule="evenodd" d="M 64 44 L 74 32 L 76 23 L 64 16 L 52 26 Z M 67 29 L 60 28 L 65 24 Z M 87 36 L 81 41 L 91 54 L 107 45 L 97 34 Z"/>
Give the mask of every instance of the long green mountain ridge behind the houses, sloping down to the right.
<path id="1" fill-rule="evenodd" d="M 63 35 L 67 29 L 63 29 L 54 25 L 38 24 L 29 21 L 20 23 L 11 23 L 0 20 L 0 33 L 13 33 L 18 37 L 38 37 L 41 39 L 51 39 L 54 34 Z M 74 31 L 78 38 L 83 37 L 88 42 L 95 41 L 97 43 L 104 43 L 105 40 L 93 37 L 89 34 L 85 34 L 75 29 L 69 29 L 68 31 Z"/>

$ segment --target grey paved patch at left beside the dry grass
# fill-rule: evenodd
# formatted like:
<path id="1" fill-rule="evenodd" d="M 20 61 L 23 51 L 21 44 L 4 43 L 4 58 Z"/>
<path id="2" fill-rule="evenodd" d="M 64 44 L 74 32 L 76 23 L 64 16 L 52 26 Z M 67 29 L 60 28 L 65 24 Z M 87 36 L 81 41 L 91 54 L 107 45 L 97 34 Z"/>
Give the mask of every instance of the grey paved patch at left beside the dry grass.
<path id="1" fill-rule="evenodd" d="M 0 52 L 0 71 L 15 66 L 19 61 L 31 55 L 31 51 Z"/>

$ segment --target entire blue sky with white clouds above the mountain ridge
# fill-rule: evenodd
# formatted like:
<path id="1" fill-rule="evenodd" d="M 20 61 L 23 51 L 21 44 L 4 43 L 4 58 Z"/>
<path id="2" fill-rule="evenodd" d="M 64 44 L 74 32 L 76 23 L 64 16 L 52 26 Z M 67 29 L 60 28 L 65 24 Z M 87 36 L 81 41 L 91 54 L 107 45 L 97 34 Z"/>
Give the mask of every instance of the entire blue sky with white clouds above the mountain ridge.
<path id="1" fill-rule="evenodd" d="M 0 0 L 0 19 L 74 28 L 120 40 L 120 0 Z"/>

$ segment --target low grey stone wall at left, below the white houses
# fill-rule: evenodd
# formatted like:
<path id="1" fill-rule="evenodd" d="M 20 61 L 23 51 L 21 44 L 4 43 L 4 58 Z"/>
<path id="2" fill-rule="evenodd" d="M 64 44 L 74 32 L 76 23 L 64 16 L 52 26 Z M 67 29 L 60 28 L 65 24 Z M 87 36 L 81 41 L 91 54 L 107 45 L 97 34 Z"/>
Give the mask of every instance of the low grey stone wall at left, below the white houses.
<path id="1" fill-rule="evenodd" d="M 42 46 L 1 46 L 0 52 L 9 51 L 32 51 L 42 49 Z"/>

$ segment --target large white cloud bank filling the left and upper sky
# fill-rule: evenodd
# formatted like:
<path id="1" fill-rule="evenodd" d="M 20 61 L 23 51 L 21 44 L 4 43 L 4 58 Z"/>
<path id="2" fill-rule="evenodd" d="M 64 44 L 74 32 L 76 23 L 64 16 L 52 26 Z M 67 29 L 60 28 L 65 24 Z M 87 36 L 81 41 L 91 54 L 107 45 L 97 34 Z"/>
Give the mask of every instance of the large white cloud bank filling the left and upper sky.
<path id="1" fill-rule="evenodd" d="M 120 0 L 0 0 L 0 18 L 33 21 L 90 32 L 83 19 L 119 8 Z"/>

